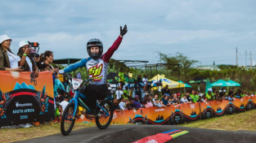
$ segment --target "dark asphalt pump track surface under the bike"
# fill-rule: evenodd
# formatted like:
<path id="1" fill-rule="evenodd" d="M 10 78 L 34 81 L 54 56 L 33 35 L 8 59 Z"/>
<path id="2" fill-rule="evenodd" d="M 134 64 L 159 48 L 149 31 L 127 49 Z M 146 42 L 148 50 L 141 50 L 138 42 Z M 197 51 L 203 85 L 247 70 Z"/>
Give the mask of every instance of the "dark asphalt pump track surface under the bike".
<path id="1" fill-rule="evenodd" d="M 99 129 L 83 128 L 70 132 L 69 136 L 62 136 L 61 133 L 47 136 L 29 139 L 18 142 L 110 142 L 110 143 L 130 143 L 141 140 L 145 137 L 168 132 L 170 130 L 182 130 L 188 131 L 188 133 L 175 137 L 166 142 L 256 142 L 256 132 L 249 131 L 223 131 L 214 129 L 203 128 L 187 128 L 177 125 L 110 125 L 109 128 Z M 61 131 L 60 131 L 61 132 Z M 151 141 L 154 142 L 154 141 Z"/>

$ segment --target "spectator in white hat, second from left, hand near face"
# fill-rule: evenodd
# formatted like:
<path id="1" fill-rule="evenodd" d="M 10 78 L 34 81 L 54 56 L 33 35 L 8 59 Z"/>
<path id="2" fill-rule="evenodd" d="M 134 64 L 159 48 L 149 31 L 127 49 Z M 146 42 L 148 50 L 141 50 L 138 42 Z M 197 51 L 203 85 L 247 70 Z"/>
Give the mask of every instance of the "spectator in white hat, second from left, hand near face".
<path id="1" fill-rule="evenodd" d="M 20 41 L 19 47 L 20 49 L 17 53 L 18 56 L 20 56 L 20 58 L 25 56 L 24 72 L 34 72 L 35 76 L 38 76 L 39 69 L 34 61 L 34 58 L 30 54 L 29 41 Z"/>

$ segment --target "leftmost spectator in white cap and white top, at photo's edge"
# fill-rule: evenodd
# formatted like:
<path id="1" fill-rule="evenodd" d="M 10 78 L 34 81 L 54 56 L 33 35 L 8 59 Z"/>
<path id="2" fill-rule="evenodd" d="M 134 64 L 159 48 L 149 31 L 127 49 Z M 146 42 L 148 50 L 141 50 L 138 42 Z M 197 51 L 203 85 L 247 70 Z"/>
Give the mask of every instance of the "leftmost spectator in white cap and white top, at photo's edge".
<path id="1" fill-rule="evenodd" d="M 11 52 L 11 41 L 11 38 L 7 35 L 0 36 L 0 71 L 24 71 L 20 67 L 25 63 L 25 56 L 20 59 L 19 56 Z"/>

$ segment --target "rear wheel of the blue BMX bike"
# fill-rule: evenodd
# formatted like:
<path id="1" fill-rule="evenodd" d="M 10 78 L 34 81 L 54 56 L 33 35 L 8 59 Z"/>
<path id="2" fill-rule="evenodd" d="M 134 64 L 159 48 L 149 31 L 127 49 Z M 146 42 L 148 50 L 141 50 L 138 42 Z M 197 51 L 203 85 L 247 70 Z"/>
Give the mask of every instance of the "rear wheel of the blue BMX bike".
<path id="1" fill-rule="evenodd" d="M 111 121 L 113 118 L 113 114 L 114 114 L 113 103 L 108 100 L 104 100 L 100 103 L 100 106 L 102 107 L 102 109 L 100 107 L 97 107 L 98 115 L 95 121 L 98 128 L 106 129 L 111 124 Z"/>

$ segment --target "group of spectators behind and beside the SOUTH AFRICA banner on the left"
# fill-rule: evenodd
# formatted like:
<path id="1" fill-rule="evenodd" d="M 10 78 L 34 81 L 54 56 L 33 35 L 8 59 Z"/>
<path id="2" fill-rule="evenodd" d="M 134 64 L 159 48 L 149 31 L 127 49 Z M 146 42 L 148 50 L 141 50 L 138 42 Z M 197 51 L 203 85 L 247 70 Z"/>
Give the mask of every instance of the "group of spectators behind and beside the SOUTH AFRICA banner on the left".
<path id="1" fill-rule="evenodd" d="M 17 47 L 18 53 L 14 54 L 11 50 L 11 41 L 7 35 L 0 36 L 0 71 L 32 72 L 34 77 L 38 77 L 38 72 L 52 72 L 54 98 L 57 103 L 56 116 L 60 117 L 66 103 L 63 105 L 59 103 L 65 102 L 66 89 L 59 80 L 59 67 L 52 67 L 53 52 L 47 50 L 39 55 L 34 53 L 29 41 L 20 41 Z"/>

